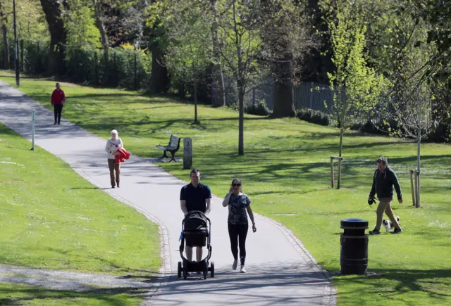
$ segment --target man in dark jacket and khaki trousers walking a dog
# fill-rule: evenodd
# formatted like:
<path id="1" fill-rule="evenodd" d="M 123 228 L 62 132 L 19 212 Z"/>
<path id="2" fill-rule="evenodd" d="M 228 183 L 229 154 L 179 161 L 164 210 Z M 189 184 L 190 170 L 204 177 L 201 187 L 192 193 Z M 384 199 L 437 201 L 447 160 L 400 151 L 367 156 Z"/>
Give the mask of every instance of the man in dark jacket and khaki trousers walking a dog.
<path id="1" fill-rule="evenodd" d="M 400 234 L 400 232 L 402 232 L 402 229 L 400 227 L 400 224 L 397 222 L 395 215 L 393 215 L 393 210 L 390 205 L 390 202 L 393 200 L 394 190 L 396 190 L 397 201 L 399 203 L 402 203 L 400 182 L 397 180 L 396 174 L 393 169 L 388 167 L 387 158 L 378 158 L 377 162 L 378 169 L 374 172 L 373 175 L 373 187 L 371 188 L 371 192 L 369 193 L 368 203 L 369 205 L 376 203 L 376 200 L 374 200 L 374 196 L 376 194 L 380 202 L 376 210 L 376 214 L 378 216 L 376 227 L 374 227 L 373 231 L 370 231 L 369 234 L 381 234 L 384 212 L 392 222 L 393 227 L 395 227 L 395 230 L 392 231 L 392 234 Z"/>

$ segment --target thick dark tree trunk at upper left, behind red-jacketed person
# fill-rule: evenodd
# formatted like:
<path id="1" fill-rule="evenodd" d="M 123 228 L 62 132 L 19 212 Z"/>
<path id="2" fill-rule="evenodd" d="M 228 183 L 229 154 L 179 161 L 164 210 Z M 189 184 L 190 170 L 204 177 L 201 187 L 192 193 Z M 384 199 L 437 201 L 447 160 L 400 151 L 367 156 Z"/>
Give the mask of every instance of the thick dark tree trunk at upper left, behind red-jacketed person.
<path id="1" fill-rule="evenodd" d="M 50 32 L 49 63 L 47 75 L 62 75 L 65 72 L 64 50 L 66 47 L 66 29 L 64 28 L 60 3 L 68 8 L 66 0 L 41 0 Z"/>

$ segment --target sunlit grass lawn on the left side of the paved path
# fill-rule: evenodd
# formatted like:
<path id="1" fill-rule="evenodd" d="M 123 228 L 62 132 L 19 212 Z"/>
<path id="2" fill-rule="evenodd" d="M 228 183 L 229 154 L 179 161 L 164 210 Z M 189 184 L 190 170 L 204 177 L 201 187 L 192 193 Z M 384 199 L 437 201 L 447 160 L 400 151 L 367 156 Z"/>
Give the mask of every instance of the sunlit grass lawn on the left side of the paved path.
<path id="1" fill-rule="evenodd" d="M 96 189 L 39 146 L 30 151 L 30 141 L 4 125 L 0 139 L 0 264 L 113 275 L 158 272 L 156 224 Z M 60 299 L 72 300 L 72 295 L 82 298 L 79 293 L 10 287 L 16 288 L 0 283 L 0 305 L 16 295 L 37 300 L 45 295 L 58 305 L 66 305 Z M 103 299 L 97 293 L 89 296 L 85 298 Z M 122 300 L 137 305 L 141 300 L 122 293 L 109 299 L 117 300 L 116 305 L 125 305 Z"/>

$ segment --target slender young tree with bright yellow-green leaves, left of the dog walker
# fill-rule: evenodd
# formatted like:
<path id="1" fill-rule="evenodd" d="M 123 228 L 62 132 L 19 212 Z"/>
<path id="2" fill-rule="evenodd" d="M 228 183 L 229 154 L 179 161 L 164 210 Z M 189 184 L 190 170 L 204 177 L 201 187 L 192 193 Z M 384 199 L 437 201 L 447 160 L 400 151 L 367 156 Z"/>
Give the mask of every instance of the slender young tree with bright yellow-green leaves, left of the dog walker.
<path id="1" fill-rule="evenodd" d="M 362 6 L 356 1 L 335 1 L 335 6 L 323 6 L 323 9 L 335 65 L 328 77 L 330 89 L 334 91 L 333 112 L 340 126 L 339 156 L 342 157 L 343 136 L 350 119 L 369 114 L 375 108 L 386 81 L 366 64 L 366 22 Z"/>

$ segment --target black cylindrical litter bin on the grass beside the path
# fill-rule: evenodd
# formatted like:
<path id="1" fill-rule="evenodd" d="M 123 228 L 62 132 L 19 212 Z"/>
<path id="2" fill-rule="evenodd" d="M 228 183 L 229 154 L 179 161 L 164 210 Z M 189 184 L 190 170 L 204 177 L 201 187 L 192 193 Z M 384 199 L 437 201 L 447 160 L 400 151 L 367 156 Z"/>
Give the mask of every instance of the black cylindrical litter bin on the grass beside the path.
<path id="1" fill-rule="evenodd" d="M 345 229 L 340 235 L 341 274 L 366 274 L 368 268 L 368 221 L 351 218 L 341 220 Z"/>

